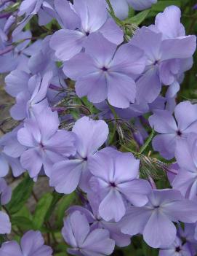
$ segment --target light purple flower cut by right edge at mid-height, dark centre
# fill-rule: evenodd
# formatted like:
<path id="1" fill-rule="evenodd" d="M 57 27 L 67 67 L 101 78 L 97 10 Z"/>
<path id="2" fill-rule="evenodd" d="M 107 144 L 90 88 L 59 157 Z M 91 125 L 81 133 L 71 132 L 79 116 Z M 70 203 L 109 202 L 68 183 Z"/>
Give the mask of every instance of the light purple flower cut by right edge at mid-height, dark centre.
<path id="1" fill-rule="evenodd" d="M 197 104 L 183 101 L 174 109 L 174 116 L 167 110 L 155 110 L 149 123 L 158 133 L 153 138 L 153 149 L 166 158 L 174 158 L 177 141 L 185 139 L 189 133 L 196 133 Z M 177 121 L 177 123 L 176 123 Z"/>

